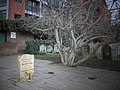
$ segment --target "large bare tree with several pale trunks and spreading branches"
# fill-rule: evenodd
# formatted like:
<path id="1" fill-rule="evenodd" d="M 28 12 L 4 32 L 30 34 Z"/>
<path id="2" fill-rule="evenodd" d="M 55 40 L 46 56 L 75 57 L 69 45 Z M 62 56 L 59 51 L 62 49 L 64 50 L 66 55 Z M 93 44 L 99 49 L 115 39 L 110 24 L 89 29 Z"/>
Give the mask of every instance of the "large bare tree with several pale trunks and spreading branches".
<path id="1" fill-rule="evenodd" d="M 46 12 L 42 17 L 26 19 L 25 25 L 33 33 L 42 31 L 55 37 L 64 65 L 76 66 L 94 57 L 100 46 L 111 43 L 115 37 L 104 0 L 65 0 L 57 10 L 49 3 L 43 5 Z"/>

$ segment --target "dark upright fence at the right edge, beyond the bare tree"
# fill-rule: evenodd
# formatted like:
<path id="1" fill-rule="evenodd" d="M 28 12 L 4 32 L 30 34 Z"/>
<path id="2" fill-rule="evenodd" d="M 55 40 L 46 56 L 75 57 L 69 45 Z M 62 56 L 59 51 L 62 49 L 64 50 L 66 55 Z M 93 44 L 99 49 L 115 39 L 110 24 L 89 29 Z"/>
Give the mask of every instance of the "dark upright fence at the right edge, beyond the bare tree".
<path id="1" fill-rule="evenodd" d="M 120 61 L 120 42 L 100 47 L 96 56 L 98 59 Z"/>

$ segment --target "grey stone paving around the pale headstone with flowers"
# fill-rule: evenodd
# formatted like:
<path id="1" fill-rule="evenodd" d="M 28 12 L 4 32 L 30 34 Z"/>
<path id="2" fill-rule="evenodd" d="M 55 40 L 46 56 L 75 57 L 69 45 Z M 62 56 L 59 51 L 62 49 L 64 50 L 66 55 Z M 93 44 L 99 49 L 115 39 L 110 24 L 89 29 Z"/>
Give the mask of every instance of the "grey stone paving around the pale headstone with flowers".
<path id="1" fill-rule="evenodd" d="M 120 90 L 120 72 L 83 66 L 65 67 L 37 59 L 34 79 L 16 82 L 16 58 L 17 55 L 0 57 L 0 90 Z"/>

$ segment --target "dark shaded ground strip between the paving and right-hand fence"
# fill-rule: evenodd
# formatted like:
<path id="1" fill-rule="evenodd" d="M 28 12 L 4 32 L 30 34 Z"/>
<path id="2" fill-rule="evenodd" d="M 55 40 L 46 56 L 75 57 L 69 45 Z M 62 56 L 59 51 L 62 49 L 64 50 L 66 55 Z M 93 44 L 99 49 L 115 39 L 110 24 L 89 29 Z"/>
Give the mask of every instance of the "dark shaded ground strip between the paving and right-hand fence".
<path id="1" fill-rule="evenodd" d="M 100 60 L 96 58 L 91 58 L 84 61 L 80 65 L 85 67 L 92 67 L 92 68 L 106 69 L 110 71 L 120 72 L 120 60 L 113 61 L 113 60 Z"/>

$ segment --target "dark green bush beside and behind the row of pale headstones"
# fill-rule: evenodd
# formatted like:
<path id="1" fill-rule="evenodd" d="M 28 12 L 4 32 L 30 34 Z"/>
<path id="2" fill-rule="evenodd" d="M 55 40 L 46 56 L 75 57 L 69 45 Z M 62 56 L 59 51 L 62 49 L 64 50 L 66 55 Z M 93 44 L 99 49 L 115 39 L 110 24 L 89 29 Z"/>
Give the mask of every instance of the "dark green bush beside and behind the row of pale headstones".
<path id="1" fill-rule="evenodd" d="M 26 48 L 25 52 L 29 54 L 38 54 L 39 46 L 44 45 L 54 45 L 54 41 L 52 40 L 29 40 L 25 42 Z"/>

